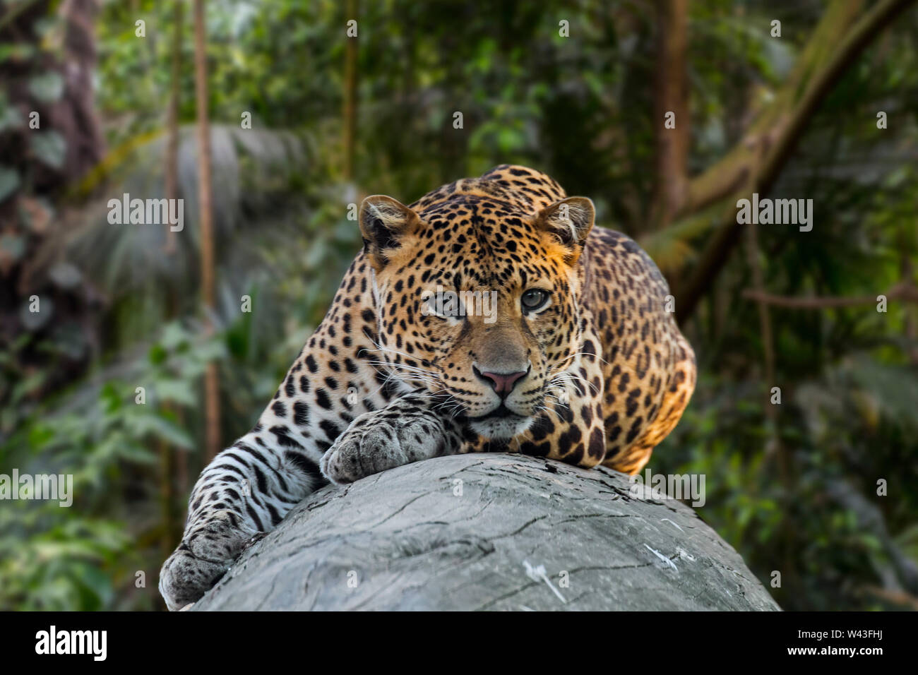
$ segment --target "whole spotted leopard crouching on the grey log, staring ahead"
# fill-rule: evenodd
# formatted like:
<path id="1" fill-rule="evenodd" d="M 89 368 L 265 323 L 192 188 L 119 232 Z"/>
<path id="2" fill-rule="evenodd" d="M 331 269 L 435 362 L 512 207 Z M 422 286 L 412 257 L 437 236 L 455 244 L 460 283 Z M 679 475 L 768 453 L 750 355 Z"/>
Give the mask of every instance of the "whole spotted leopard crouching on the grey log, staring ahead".
<path id="1" fill-rule="evenodd" d="M 204 468 L 163 563 L 170 610 L 323 486 L 459 453 L 636 474 L 696 380 L 666 279 L 588 197 L 501 164 L 405 206 L 363 249 L 249 433 Z"/>

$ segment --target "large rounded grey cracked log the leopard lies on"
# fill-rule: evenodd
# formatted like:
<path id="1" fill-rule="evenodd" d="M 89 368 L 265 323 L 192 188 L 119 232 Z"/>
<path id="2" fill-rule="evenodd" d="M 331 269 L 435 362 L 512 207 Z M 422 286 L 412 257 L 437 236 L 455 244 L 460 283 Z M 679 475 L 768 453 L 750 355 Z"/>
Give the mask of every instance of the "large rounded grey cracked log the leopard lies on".
<path id="1" fill-rule="evenodd" d="M 778 609 L 688 506 L 631 488 L 519 455 L 398 467 L 311 495 L 192 609 Z"/>

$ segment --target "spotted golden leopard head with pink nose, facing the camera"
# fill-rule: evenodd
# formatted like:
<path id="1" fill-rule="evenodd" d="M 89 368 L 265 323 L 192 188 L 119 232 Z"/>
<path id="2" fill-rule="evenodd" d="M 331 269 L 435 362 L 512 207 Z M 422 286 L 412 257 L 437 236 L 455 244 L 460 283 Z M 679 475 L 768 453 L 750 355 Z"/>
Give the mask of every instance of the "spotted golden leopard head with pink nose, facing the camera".
<path id="1" fill-rule="evenodd" d="M 360 209 L 378 362 L 486 438 L 524 432 L 563 396 L 558 378 L 580 348 L 594 208 L 557 192 L 540 204 L 467 179 L 414 208 L 377 195 Z"/>

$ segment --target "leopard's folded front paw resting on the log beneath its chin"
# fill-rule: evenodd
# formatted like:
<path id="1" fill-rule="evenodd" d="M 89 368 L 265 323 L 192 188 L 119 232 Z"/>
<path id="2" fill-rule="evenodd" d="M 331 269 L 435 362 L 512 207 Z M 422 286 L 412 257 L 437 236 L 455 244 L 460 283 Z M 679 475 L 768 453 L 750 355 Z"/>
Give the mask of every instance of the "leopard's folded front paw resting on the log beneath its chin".
<path id="1" fill-rule="evenodd" d="M 322 474 L 343 484 L 411 462 L 462 452 L 463 431 L 430 395 L 407 394 L 365 412 L 322 456 Z"/>

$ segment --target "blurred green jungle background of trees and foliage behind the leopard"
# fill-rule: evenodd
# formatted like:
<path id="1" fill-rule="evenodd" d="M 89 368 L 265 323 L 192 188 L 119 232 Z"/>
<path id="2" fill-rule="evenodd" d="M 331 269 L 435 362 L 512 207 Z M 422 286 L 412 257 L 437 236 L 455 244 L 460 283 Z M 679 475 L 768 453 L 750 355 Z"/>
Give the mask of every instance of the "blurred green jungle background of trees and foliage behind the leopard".
<path id="1" fill-rule="evenodd" d="M 670 281 L 700 380 L 649 468 L 706 475 L 784 609 L 918 608 L 913 5 L 0 0 L 0 473 L 74 478 L 0 502 L 0 609 L 162 609 L 197 473 L 360 247 L 348 205 L 498 163 Z M 754 192 L 812 231 L 738 226 Z M 123 193 L 184 230 L 109 223 Z"/>

